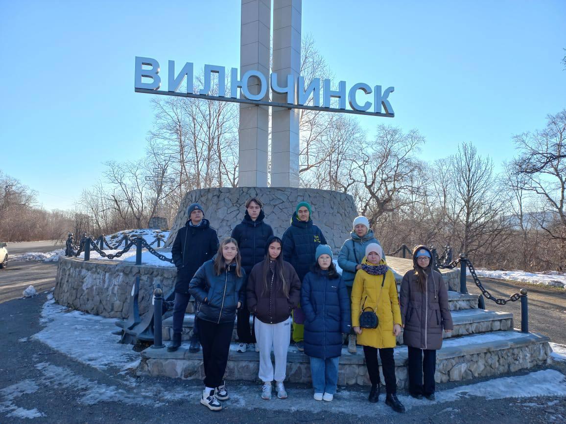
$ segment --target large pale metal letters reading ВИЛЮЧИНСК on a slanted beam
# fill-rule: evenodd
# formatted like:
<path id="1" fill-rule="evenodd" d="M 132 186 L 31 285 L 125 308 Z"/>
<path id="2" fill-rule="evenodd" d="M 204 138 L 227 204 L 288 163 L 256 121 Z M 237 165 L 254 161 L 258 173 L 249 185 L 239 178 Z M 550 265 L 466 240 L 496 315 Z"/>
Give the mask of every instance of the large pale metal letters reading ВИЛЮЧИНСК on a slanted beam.
<path id="1" fill-rule="evenodd" d="M 160 90 L 161 76 L 159 75 L 160 66 L 156 59 L 136 57 L 135 64 L 135 91 L 136 93 L 148 94 L 163 94 L 165 96 L 182 96 L 182 97 L 195 97 L 204 98 L 208 100 L 220 100 L 225 102 L 238 102 L 238 103 L 251 103 L 254 105 L 264 106 L 277 106 L 286 107 L 288 109 L 310 109 L 321 110 L 327 112 L 340 112 L 351 113 L 359 115 L 374 115 L 385 116 L 393 118 L 395 113 L 391 102 L 389 102 L 389 94 L 393 93 L 394 87 L 388 87 L 385 90 L 381 89 L 381 85 L 375 85 L 373 88 L 365 83 L 357 83 L 351 86 L 348 90 L 348 103 L 351 109 L 346 109 L 346 81 L 338 83 L 338 89 L 331 89 L 331 80 L 314 78 L 305 87 L 305 79 L 302 76 L 294 78 L 288 75 L 286 78 L 286 85 L 283 84 L 281 79 L 277 80 L 277 74 L 271 74 L 271 84 L 263 73 L 256 70 L 250 70 L 238 79 L 238 69 L 231 68 L 230 71 L 230 93 L 225 96 L 226 92 L 226 70 L 224 66 L 204 65 L 204 88 L 198 90 L 198 93 L 193 92 L 193 69 L 192 63 L 187 62 L 182 67 L 181 71 L 175 75 L 175 62 L 169 60 L 169 75 L 168 75 L 168 90 Z M 212 73 L 216 73 L 218 77 L 218 96 L 213 96 L 211 92 L 211 79 Z M 258 81 L 259 93 L 252 94 L 248 89 L 248 80 L 255 78 Z M 144 79 L 146 82 L 144 82 Z M 147 80 L 151 81 L 147 81 Z M 186 92 L 178 92 L 177 90 L 186 81 Z M 265 101 L 263 98 L 267 90 L 271 86 L 271 90 L 278 94 L 286 94 L 286 103 L 277 103 Z M 322 88 L 322 106 L 320 106 L 320 92 Z M 241 92 L 241 97 L 238 97 L 238 92 Z M 361 92 L 366 100 L 365 102 L 358 103 L 357 95 Z M 370 96 L 372 94 L 372 96 Z M 310 97 L 312 96 L 312 106 L 307 105 Z M 338 107 L 331 107 L 331 99 L 338 99 Z"/>

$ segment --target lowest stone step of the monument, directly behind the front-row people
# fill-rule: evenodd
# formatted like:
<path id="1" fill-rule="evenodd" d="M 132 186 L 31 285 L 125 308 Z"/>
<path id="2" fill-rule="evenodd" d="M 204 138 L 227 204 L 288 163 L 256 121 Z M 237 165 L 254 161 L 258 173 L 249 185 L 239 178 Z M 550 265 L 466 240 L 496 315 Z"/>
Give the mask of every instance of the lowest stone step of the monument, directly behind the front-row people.
<path id="1" fill-rule="evenodd" d="M 517 330 L 474 334 L 445 340 L 436 355 L 437 382 L 454 382 L 477 377 L 514 372 L 547 364 L 550 345 L 546 336 L 522 333 Z M 236 352 L 237 344 L 230 346 L 225 378 L 228 380 L 258 379 L 259 353 Z M 407 348 L 395 349 L 398 387 L 407 384 Z M 287 380 L 294 383 L 311 383 L 309 358 L 291 345 L 287 360 Z M 165 376 L 183 379 L 204 377 L 202 354 L 188 352 L 183 344 L 177 352 L 148 348 L 141 352 L 138 375 Z M 383 378 L 383 377 L 382 377 Z M 383 379 L 382 379 L 383 381 Z M 355 354 L 342 349 L 338 384 L 369 384 L 363 350 Z"/>

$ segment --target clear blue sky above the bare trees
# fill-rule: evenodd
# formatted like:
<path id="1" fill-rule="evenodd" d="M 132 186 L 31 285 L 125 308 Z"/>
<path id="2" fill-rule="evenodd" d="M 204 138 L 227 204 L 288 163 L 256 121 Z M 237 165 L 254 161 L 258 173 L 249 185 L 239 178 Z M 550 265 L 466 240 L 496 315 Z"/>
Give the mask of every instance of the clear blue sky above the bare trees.
<path id="1" fill-rule="evenodd" d="M 102 162 L 144 155 L 150 96 L 134 58 L 239 66 L 239 0 L 0 1 L 0 169 L 66 209 Z M 566 107 L 566 2 L 303 0 L 338 79 L 394 85 L 394 119 L 426 137 L 423 159 L 471 141 L 496 164 L 513 134 Z"/>

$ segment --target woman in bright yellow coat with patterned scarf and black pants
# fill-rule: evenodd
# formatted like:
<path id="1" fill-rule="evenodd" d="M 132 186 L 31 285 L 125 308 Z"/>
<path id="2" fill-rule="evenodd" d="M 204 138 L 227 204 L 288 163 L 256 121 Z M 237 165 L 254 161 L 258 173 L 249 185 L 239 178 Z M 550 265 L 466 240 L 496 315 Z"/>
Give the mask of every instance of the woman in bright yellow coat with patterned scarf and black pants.
<path id="1" fill-rule="evenodd" d="M 367 373 L 371 382 L 370 402 L 378 402 L 381 391 L 379 350 L 387 391 L 385 404 L 397 412 L 405 412 L 405 406 L 397 398 L 395 360 L 393 359 L 395 337 L 401 334 L 401 310 L 397 297 L 397 283 L 393 271 L 381 258 L 383 258 L 381 246 L 376 243 L 368 244 L 362 268 L 356 272 L 352 287 L 352 326 L 358 334 L 358 344 L 363 346 L 363 354 L 366 357 Z M 359 315 L 364 309 L 369 311 L 367 308 L 373 309 L 378 315 L 377 328 L 359 326 Z"/>

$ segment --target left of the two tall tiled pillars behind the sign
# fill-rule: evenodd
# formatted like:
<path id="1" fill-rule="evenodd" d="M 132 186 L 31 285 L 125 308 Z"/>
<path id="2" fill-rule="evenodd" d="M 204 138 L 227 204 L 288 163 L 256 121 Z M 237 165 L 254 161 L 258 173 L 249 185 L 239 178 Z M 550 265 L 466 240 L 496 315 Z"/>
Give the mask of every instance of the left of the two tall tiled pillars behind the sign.
<path id="1" fill-rule="evenodd" d="M 240 77 L 249 70 L 268 76 L 271 0 L 242 0 L 240 29 Z M 259 93 L 258 81 L 250 78 L 248 88 Z M 240 104 L 239 187 L 267 187 L 268 126 L 268 106 Z"/>

